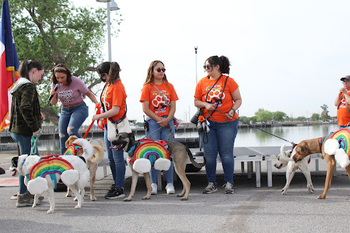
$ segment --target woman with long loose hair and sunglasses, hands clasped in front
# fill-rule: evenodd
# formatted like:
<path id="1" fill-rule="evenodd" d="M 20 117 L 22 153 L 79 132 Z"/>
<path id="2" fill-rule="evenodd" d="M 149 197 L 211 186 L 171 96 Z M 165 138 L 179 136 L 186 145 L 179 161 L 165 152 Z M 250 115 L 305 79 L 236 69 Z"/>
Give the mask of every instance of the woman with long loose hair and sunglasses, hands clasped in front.
<path id="1" fill-rule="evenodd" d="M 152 61 L 148 68 L 147 78 L 142 88 L 140 102 L 142 110 L 147 115 L 148 131 L 146 137 L 154 140 L 174 141 L 174 114 L 178 96 L 171 83 L 167 81 L 164 64 Z M 173 185 L 174 164 L 165 172 L 167 178 L 167 194 L 174 194 Z M 157 194 L 157 170 L 150 172 L 152 194 Z"/>

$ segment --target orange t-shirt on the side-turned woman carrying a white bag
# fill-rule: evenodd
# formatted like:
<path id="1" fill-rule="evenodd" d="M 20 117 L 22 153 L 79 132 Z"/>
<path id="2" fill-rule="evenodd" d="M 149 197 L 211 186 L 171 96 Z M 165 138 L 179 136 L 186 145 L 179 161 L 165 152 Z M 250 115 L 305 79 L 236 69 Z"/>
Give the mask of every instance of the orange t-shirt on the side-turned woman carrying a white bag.
<path id="1" fill-rule="evenodd" d="M 114 115 L 112 120 L 118 120 L 122 118 L 125 113 L 126 105 L 126 92 L 122 81 L 118 80 L 113 85 L 106 83 L 105 90 L 101 96 L 102 102 L 107 107 L 106 111 L 109 111 L 112 106 L 119 106 L 120 110 L 117 115 Z M 103 119 L 103 124 L 107 124 L 107 120 Z"/>

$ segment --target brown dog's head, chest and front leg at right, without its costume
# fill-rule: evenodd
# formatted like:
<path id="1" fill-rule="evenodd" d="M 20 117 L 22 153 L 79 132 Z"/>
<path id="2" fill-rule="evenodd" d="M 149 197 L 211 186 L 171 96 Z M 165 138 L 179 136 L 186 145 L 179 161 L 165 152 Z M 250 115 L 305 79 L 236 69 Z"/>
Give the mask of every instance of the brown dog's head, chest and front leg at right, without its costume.
<path id="1" fill-rule="evenodd" d="M 327 175 L 325 177 L 325 189 L 321 195 L 319 195 L 317 198 L 324 199 L 327 195 L 328 189 L 331 187 L 331 181 L 332 176 L 334 172 L 334 167 L 336 166 L 336 161 L 334 159 L 334 155 L 330 155 L 325 153 L 325 141 L 329 139 L 325 139 L 326 136 L 323 136 L 321 138 L 314 138 L 309 140 L 301 141 L 293 150 L 293 153 L 291 156 L 293 156 L 294 161 L 301 161 L 309 154 L 314 153 L 321 153 L 323 154 L 323 158 L 327 162 Z M 350 166 L 345 167 L 347 170 L 347 175 L 350 179 Z"/>

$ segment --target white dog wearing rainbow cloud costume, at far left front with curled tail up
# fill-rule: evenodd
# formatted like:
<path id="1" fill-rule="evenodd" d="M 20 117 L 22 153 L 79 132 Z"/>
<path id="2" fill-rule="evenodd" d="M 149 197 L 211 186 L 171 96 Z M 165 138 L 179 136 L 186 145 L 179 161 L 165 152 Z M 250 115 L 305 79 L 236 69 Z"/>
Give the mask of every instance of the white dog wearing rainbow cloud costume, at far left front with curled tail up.
<path id="1" fill-rule="evenodd" d="M 85 140 L 85 139 L 80 139 Z M 81 142 L 81 141 L 80 141 Z M 81 208 L 83 197 L 85 195 L 85 186 L 90 179 L 90 172 L 86 167 L 85 161 L 94 154 L 94 149 L 85 148 L 83 143 L 83 155 L 51 155 L 40 157 L 38 155 L 23 154 L 18 157 L 16 166 L 17 172 L 25 176 L 25 184 L 28 191 L 35 195 L 33 208 L 38 204 L 38 198 L 42 193 L 49 195 L 50 209 L 47 213 L 53 213 L 55 210 L 55 184 L 62 180 L 67 187 L 77 196 L 78 204 L 75 208 Z M 81 191 L 81 194 L 79 193 Z"/>

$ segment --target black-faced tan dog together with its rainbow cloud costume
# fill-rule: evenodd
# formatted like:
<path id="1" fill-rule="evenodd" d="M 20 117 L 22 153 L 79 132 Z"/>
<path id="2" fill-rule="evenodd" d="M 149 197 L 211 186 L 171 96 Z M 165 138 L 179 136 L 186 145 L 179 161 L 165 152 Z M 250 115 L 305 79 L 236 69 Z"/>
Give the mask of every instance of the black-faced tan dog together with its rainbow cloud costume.
<path id="1" fill-rule="evenodd" d="M 142 200 L 150 199 L 152 191 L 150 186 L 150 169 L 154 167 L 155 169 L 167 170 L 170 167 L 170 159 L 174 162 L 176 174 L 183 182 L 183 191 L 177 196 L 181 197 L 180 200 L 188 200 L 191 183 L 185 174 L 187 158 L 195 167 L 200 168 L 205 165 L 205 159 L 204 163 L 196 163 L 189 148 L 177 141 L 153 141 L 150 139 L 135 141 L 133 133 L 119 133 L 116 140 L 111 143 L 115 145 L 113 147 L 114 150 L 128 152 L 128 164 L 133 172 L 131 191 L 129 197 L 124 199 L 124 202 L 131 201 L 135 194 L 139 173 L 144 173 L 147 186 L 147 195 L 142 197 Z"/>

